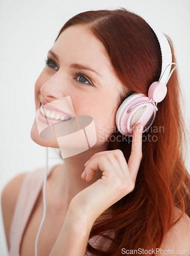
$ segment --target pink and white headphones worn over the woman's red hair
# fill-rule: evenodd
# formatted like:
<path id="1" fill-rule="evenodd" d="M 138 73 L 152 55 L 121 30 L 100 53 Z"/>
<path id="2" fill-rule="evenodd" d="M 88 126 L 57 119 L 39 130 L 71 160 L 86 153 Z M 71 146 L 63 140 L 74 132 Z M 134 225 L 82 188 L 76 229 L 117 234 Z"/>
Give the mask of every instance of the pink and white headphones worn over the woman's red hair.
<path id="1" fill-rule="evenodd" d="M 148 25 L 150 26 L 149 23 Z M 116 113 L 116 124 L 119 132 L 125 136 L 132 136 L 134 127 L 138 123 L 143 123 L 143 133 L 153 124 L 158 110 L 157 102 L 166 97 L 166 84 L 177 67 L 176 63 L 172 62 L 171 48 L 164 33 L 153 26 L 150 27 L 157 36 L 160 45 L 161 74 L 158 82 L 153 82 L 149 87 L 148 97 L 140 93 L 134 93 L 120 105 Z M 172 65 L 175 65 L 175 67 L 171 70 Z"/>

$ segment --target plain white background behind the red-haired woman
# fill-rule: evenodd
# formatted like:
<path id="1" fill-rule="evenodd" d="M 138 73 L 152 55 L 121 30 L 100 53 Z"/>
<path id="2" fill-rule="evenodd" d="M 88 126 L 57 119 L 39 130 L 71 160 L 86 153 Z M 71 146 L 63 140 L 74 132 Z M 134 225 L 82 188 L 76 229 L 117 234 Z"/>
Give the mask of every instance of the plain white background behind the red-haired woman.
<path id="1" fill-rule="evenodd" d="M 190 104 L 187 101 L 190 95 L 189 0 L 1 0 L 0 193 L 5 184 L 17 174 L 45 166 L 45 147 L 30 138 L 36 113 L 34 85 L 59 30 L 70 17 L 79 12 L 119 7 L 145 17 L 173 40 L 185 100 L 183 111 L 187 125 L 190 126 Z M 60 161 L 57 156 L 59 151 L 50 152 L 49 165 L 54 165 Z M 0 227 L 0 255 L 5 256 L 7 247 L 1 215 Z"/>

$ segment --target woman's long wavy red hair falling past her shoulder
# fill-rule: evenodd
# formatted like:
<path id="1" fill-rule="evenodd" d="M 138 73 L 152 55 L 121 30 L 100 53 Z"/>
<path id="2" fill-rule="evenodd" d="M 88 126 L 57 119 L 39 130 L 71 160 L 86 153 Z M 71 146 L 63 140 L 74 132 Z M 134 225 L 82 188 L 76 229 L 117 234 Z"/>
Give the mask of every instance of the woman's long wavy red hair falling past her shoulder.
<path id="1" fill-rule="evenodd" d="M 147 95 L 150 84 L 159 79 L 161 53 L 159 42 L 145 20 L 124 8 L 87 11 L 69 19 L 58 37 L 78 24 L 87 26 L 102 42 L 123 85 L 116 108 L 132 93 Z M 172 42 L 167 38 L 175 61 Z M 106 252 L 88 243 L 87 253 L 121 255 L 122 248 L 159 248 L 183 213 L 190 217 L 190 177 L 185 167 L 189 132 L 181 111 L 182 93 L 176 70 L 167 88 L 166 98 L 157 105 L 159 110 L 153 125 L 143 134 L 143 158 L 134 190 L 111 206 L 111 218 L 94 223 L 89 237 L 109 238 L 106 232 L 114 231 L 115 238 Z M 113 135 L 117 138 L 121 134 L 116 131 Z M 120 149 L 128 161 L 130 138 L 110 140 L 107 150 Z M 180 209 L 177 219 L 175 208 Z"/>

